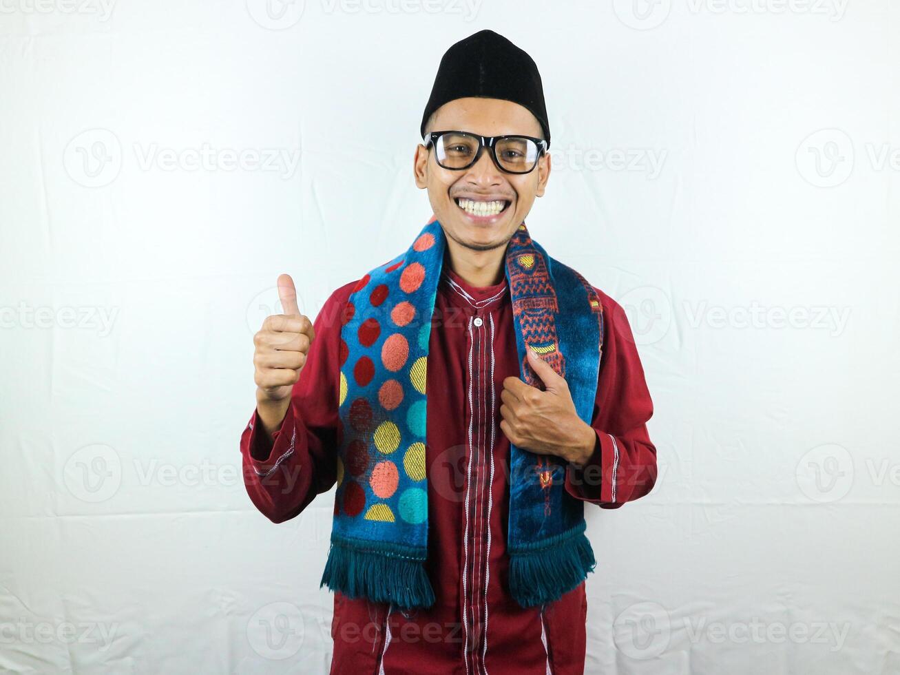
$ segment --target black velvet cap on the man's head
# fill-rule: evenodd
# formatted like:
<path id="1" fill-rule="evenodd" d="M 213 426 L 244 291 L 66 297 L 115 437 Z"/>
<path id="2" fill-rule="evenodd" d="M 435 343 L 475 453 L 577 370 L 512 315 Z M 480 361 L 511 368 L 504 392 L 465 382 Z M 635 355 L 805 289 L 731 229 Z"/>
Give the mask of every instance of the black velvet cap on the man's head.
<path id="1" fill-rule="evenodd" d="M 432 112 L 448 101 L 466 96 L 501 98 L 526 107 L 541 123 L 550 147 L 544 86 L 537 65 L 526 51 L 499 33 L 478 31 L 446 50 L 422 114 L 419 136 L 425 135 Z"/>

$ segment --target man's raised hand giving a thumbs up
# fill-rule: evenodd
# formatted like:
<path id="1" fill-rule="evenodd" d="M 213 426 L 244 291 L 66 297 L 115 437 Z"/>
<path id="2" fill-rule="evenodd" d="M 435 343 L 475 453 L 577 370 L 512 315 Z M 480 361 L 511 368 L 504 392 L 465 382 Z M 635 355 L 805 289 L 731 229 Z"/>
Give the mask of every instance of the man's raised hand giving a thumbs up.
<path id="1" fill-rule="evenodd" d="M 278 277 L 278 298 L 284 314 L 266 317 L 263 327 L 253 336 L 257 346 L 253 354 L 256 368 L 257 404 L 278 401 L 286 411 L 293 385 L 306 364 L 315 330 L 312 321 L 297 307 L 297 290 L 290 275 Z M 284 417 L 284 415 L 282 416 Z"/>

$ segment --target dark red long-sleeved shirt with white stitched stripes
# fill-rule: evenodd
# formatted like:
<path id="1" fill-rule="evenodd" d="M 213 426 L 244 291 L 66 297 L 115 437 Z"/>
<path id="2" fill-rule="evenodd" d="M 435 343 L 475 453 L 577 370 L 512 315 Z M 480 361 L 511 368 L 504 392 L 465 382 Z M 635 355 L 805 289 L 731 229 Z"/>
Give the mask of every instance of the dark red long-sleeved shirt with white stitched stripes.
<path id="1" fill-rule="evenodd" d="M 331 673 L 575 675 L 585 661 L 585 585 L 540 608 L 508 592 L 509 440 L 500 430 L 503 379 L 518 377 L 504 278 L 482 288 L 445 266 L 428 344 L 428 561 L 436 603 L 401 611 L 334 594 Z M 254 410 L 240 439 L 250 500 L 267 518 L 296 517 L 337 481 L 340 317 L 356 282 L 331 294 L 314 321 L 291 406 L 266 443 Z M 605 340 L 589 464 L 570 464 L 573 497 L 617 509 L 656 481 L 646 421 L 653 402 L 622 308 L 599 291 Z M 586 514 L 587 515 L 587 514 Z M 597 552 L 599 561 L 604 553 Z M 308 582 L 318 586 L 321 570 Z"/>

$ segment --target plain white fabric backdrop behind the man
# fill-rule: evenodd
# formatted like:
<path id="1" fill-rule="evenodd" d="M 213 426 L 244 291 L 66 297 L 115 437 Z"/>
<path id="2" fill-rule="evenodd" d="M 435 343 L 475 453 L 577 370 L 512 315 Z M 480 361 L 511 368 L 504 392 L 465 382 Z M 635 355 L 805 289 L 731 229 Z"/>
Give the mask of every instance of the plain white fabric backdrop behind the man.
<path id="1" fill-rule="evenodd" d="M 252 336 L 409 244 L 491 28 L 544 78 L 529 229 L 655 406 L 654 491 L 586 509 L 587 672 L 900 672 L 900 6 L 562 5 L 0 0 L 0 671 L 328 671 L 333 492 L 248 500 Z"/>

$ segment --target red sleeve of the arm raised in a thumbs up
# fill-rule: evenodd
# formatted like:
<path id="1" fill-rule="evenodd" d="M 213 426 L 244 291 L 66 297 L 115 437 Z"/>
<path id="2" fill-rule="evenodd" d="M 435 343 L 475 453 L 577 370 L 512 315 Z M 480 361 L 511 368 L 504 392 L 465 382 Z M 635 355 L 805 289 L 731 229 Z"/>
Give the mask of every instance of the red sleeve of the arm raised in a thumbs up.
<path id="1" fill-rule="evenodd" d="M 244 486 L 274 523 L 295 518 L 337 481 L 341 316 L 355 284 L 332 293 L 313 322 L 315 339 L 281 423 L 270 434 L 260 414 L 269 403 L 257 402 L 241 434 Z"/>

